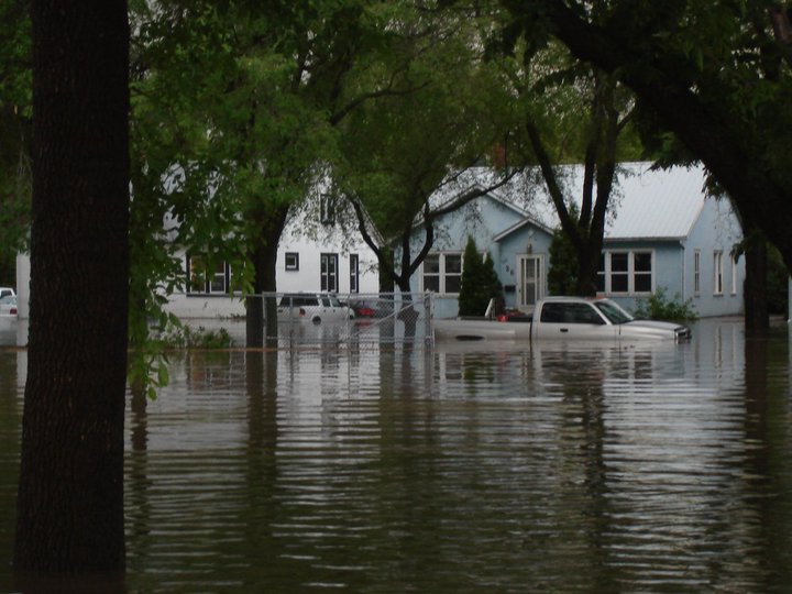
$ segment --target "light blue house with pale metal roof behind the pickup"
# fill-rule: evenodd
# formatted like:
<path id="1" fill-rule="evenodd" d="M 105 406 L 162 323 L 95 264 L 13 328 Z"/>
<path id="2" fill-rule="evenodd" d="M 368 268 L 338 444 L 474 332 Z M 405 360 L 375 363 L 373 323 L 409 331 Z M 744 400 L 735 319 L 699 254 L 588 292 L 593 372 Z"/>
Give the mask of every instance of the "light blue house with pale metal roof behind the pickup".
<path id="1" fill-rule="evenodd" d="M 582 174 L 582 166 L 564 170 L 572 199 L 580 199 Z M 549 246 L 559 222 L 535 175 L 528 173 L 437 221 L 433 250 L 415 275 L 414 288 L 437 294 L 438 317 L 457 314 L 469 235 L 493 257 L 507 307 L 528 310 L 548 294 Z M 701 167 L 619 167 L 600 264 L 600 294 L 635 309 L 639 299 L 663 289 L 668 297 L 691 299 L 703 317 L 743 314 L 745 260 L 732 255 L 743 238 L 740 224 L 729 200 L 707 197 L 704 183 Z M 441 202 L 443 197 L 437 199 Z M 417 233 L 416 246 L 419 242 Z"/>

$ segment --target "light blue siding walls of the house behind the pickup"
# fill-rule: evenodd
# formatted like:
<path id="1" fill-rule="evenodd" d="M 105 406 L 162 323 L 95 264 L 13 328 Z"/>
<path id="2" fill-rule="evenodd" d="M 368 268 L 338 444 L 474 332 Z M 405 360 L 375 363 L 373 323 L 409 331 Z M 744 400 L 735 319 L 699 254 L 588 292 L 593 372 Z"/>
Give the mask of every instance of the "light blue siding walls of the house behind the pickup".
<path id="1" fill-rule="evenodd" d="M 743 283 L 745 280 L 745 258 L 733 267 L 732 251 L 741 240 L 739 221 L 728 200 L 707 198 L 693 194 L 690 200 L 673 202 L 675 208 L 690 204 L 691 212 L 669 212 L 668 217 L 684 218 L 693 221 L 686 237 L 679 238 L 635 238 L 608 239 L 604 242 L 606 251 L 651 251 L 652 292 L 663 289 L 668 298 L 682 301 L 692 299 L 697 314 L 702 317 L 741 315 Z M 684 217 L 682 217 L 684 215 Z M 524 223 L 524 224 L 518 224 Z M 514 229 L 507 232 L 507 230 Z M 680 230 L 681 231 L 681 230 Z M 519 300 L 519 270 L 521 256 L 539 256 L 542 262 L 543 287 L 547 295 L 547 272 L 550 265 L 549 248 L 551 234 L 543 226 L 534 224 L 518 210 L 512 209 L 492 197 L 474 200 L 458 212 L 442 217 L 436 222 L 436 241 L 432 252 L 462 252 L 472 235 L 479 250 L 488 251 L 495 262 L 495 270 L 506 290 L 507 307 L 516 307 Z M 495 241 L 494 238 L 498 237 Z M 422 232 L 416 231 L 413 243 L 414 253 L 422 244 Z M 700 254 L 700 290 L 694 292 L 695 254 Z M 723 258 L 723 292 L 715 290 L 715 253 Z M 411 279 L 414 290 L 421 287 L 421 273 L 418 271 Z M 639 299 L 649 294 L 606 294 L 628 310 L 635 310 Z M 457 315 L 457 300 L 453 296 L 436 301 L 437 315 L 442 317 Z"/>

